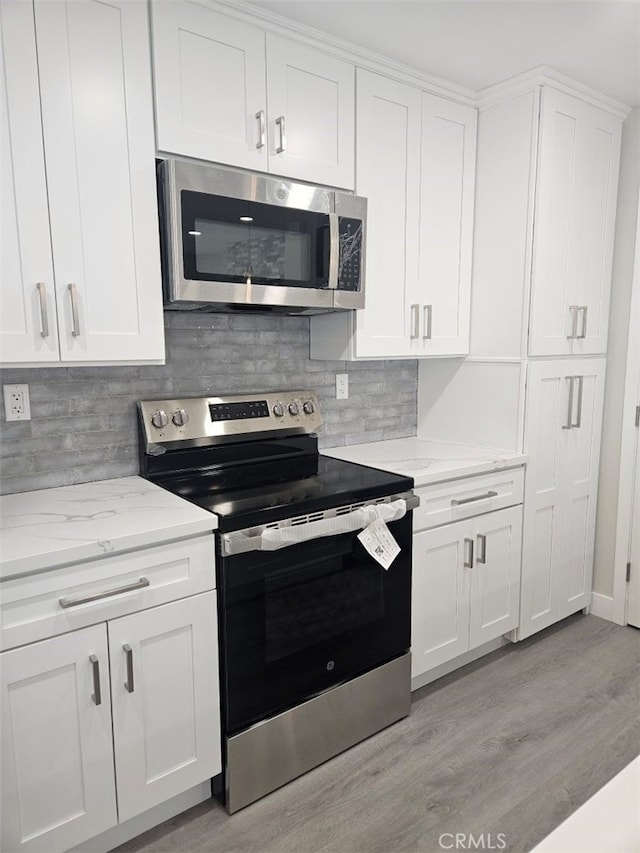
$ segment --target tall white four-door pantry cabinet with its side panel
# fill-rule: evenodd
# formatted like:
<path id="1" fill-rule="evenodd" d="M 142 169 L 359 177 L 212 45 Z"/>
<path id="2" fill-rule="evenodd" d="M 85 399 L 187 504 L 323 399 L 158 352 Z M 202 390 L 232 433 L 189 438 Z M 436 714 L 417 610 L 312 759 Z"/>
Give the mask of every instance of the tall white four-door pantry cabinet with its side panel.
<path id="1" fill-rule="evenodd" d="M 419 434 L 486 444 L 493 431 L 529 455 L 516 639 L 591 602 L 625 114 L 548 69 L 485 90 L 470 357 L 419 368 Z M 498 386 L 508 401 L 478 405 Z"/>

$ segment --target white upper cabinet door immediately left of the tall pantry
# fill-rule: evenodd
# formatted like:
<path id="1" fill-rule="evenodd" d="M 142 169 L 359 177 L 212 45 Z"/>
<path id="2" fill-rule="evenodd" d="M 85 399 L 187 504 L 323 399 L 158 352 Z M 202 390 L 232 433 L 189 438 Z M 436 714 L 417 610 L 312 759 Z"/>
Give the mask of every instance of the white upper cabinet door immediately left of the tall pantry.
<path id="1" fill-rule="evenodd" d="M 425 355 L 469 352 L 477 111 L 422 96 L 420 343 Z"/>

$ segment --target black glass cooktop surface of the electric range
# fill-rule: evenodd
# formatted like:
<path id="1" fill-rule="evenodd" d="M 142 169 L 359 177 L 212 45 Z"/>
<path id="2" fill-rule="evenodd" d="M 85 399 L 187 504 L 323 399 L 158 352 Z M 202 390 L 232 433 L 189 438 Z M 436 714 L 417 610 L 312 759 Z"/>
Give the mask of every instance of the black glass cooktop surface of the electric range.
<path id="1" fill-rule="evenodd" d="M 411 477 L 328 456 L 273 459 L 151 477 L 219 518 L 223 531 L 254 527 L 413 488 Z"/>

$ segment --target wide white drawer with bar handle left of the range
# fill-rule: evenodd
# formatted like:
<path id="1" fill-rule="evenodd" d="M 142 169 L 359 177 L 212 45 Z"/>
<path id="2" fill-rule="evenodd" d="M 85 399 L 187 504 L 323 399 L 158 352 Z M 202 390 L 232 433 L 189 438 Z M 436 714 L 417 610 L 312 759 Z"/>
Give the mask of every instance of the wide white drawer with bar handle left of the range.
<path id="1" fill-rule="evenodd" d="M 0 648 L 84 628 L 215 588 L 207 533 L 2 584 Z"/>

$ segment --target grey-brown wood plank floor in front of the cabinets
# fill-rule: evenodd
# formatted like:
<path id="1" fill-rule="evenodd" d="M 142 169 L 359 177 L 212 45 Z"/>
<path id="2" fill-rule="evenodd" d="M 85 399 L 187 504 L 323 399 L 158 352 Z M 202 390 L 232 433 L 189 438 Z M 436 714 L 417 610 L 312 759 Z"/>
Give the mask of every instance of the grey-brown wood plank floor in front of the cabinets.
<path id="1" fill-rule="evenodd" d="M 484 849 L 530 851 L 640 753 L 639 663 L 640 631 L 571 617 L 232 817 L 211 800 L 119 850 L 439 853 L 443 833 L 484 833 Z"/>

